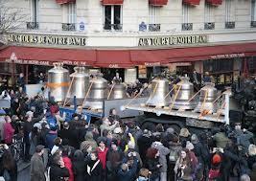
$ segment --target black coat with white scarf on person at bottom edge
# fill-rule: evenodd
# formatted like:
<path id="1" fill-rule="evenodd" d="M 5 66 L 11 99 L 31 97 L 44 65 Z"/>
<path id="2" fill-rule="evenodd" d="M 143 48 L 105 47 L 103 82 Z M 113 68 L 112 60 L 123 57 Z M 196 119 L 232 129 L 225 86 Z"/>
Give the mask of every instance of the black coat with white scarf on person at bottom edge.
<path id="1" fill-rule="evenodd" d="M 86 170 L 87 170 L 87 179 L 89 181 L 100 181 L 100 180 L 104 180 L 103 179 L 103 165 L 101 164 L 101 162 L 98 162 L 99 160 L 96 161 L 89 161 L 89 163 L 86 166 Z M 88 171 L 90 170 L 90 171 Z"/>

